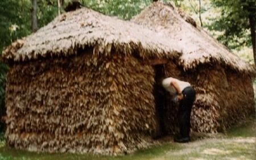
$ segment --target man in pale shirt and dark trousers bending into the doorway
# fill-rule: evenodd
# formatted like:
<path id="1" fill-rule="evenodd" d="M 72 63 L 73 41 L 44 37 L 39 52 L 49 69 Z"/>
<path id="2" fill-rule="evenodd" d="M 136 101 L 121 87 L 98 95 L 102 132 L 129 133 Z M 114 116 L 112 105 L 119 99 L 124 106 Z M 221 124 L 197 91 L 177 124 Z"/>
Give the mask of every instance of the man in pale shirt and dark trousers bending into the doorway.
<path id="1" fill-rule="evenodd" d="M 162 85 L 164 89 L 170 92 L 174 100 L 179 101 L 178 120 L 180 133 L 174 137 L 174 141 L 181 143 L 188 142 L 190 141 L 191 109 L 195 100 L 196 91 L 191 87 L 190 83 L 172 77 L 163 79 Z"/>

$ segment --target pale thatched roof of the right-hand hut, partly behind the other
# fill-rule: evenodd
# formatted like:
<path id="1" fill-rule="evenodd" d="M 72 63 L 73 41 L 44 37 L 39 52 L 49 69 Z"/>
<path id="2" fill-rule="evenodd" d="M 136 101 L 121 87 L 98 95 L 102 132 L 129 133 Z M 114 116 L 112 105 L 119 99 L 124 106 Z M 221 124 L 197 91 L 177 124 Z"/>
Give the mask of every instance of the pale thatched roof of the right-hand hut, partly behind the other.
<path id="1" fill-rule="evenodd" d="M 183 54 L 179 64 L 185 70 L 196 68 L 199 64 L 217 63 L 241 73 L 254 73 L 253 66 L 230 52 L 210 37 L 203 28 L 196 26 L 192 18 L 170 4 L 152 3 L 131 21 L 147 26 L 151 30 L 164 32 L 176 44 L 181 45 Z"/>

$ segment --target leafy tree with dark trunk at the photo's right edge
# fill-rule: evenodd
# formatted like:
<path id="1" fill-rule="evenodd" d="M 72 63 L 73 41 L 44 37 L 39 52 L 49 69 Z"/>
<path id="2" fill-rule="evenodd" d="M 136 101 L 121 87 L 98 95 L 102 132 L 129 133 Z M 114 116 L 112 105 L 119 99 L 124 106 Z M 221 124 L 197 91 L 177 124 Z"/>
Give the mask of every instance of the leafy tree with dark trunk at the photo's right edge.
<path id="1" fill-rule="evenodd" d="M 240 37 L 248 37 L 243 41 L 236 41 L 234 47 L 237 45 L 252 45 L 254 64 L 256 66 L 255 53 L 255 17 L 256 17 L 256 3 L 255 0 L 212 0 L 216 7 L 221 8 L 221 18 L 212 26 L 213 30 L 224 31 L 224 36 L 220 37 L 225 45 L 230 46 L 234 40 Z"/>

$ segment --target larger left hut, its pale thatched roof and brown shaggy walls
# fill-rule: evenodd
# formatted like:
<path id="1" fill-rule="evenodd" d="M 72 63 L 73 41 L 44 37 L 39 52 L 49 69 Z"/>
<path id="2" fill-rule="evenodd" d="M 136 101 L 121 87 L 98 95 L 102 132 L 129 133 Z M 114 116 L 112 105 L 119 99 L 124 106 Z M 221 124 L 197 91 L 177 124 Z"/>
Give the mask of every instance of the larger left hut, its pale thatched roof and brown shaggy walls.
<path id="1" fill-rule="evenodd" d="M 117 154 L 144 148 L 155 129 L 154 68 L 180 55 L 170 39 L 80 9 L 7 47 L 7 144 Z"/>

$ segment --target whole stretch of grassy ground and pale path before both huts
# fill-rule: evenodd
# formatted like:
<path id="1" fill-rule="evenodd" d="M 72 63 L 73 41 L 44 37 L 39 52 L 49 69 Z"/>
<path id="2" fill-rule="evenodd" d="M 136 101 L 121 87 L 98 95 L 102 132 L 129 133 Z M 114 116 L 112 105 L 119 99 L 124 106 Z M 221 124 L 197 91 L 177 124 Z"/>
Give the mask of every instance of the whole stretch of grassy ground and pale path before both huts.
<path id="1" fill-rule="evenodd" d="M 0 146 L 0 159 L 97 159 L 97 160 L 129 160 L 129 159 L 255 159 L 255 125 L 250 121 L 245 125 L 228 130 L 221 136 L 197 138 L 188 144 L 172 142 L 171 137 L 162 138 L 162 144 L 150 149 L 138 150 L 129 155 L 117 157 L 92 155 L 92 154 L 50 154 L 36 153 L 24 150 L 11 149 Z"/>

